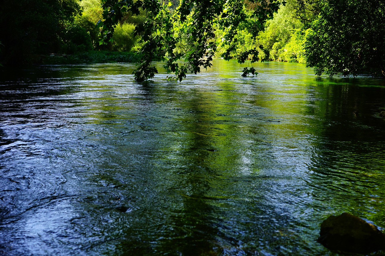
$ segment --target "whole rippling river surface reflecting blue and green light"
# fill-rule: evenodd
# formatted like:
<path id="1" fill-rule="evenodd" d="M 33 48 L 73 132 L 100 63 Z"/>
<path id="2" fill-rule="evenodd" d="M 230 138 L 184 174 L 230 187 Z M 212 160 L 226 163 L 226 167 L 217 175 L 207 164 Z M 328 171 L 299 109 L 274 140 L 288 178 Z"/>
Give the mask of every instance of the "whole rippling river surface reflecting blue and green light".
<path id="1" fill-rule="evenodd" d="M 334 255 L 321 221 L 385 227 L 385 83 L 236 62 L 3 71 L 0 255 Z"/>

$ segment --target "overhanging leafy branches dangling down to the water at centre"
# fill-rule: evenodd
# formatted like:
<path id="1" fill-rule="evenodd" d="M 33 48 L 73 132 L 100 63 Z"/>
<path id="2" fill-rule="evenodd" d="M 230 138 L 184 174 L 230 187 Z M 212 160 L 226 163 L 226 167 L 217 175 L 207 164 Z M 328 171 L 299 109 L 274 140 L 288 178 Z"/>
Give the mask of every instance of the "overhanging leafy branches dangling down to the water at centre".
<path id="1" fill-rule="evenodd" d="M 141 37 L 142 48 L 139 50 L 140 63 L 134 71 L 135 79 L 143 81 L 152 78 L 157 69 L 151 63 L 164 61 L 171 78 L 181 81 L 188 71 L 200 72 L 201 68 L 210 67 L 218 43 L 216 32 L 223 36 L 221 47 L 225 48 L 222 57 L 229 60 L 231 51 L 236 47 L 238 28 L 246 29 L 253 38 L 263 30 L 266 20 L 273 17 L 284 0 L 180 0 L 164 2 L 162 0 L 102 0 L 104 21 L 103 41 L 112 38 L 114 28 L 125 13 L 147 14 L 142 25 L 137 25 L 135 33 Z M 184 50 L 178 50 L 178 49 Z M 167 56 L 168 58 L 165 58 Z M 258 50 L 248 49 L 240 54 L 238 62 L 257 61 Z M 178 60 L 186 63 L 180 65 Z M 244 68 L 243 76 L 253 74 L 251 66 Z"/>

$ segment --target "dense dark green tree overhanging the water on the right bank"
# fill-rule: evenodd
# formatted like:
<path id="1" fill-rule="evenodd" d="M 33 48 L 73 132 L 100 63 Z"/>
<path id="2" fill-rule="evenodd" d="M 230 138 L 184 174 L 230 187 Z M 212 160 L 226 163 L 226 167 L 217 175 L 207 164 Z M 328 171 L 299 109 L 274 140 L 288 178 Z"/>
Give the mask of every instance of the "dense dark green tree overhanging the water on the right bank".
<path id="1" fill-rule="evenodd" d="M 306 63 L 315 74 L 385 77 L 385 0 L 321 1 L 306 37 Z"/>

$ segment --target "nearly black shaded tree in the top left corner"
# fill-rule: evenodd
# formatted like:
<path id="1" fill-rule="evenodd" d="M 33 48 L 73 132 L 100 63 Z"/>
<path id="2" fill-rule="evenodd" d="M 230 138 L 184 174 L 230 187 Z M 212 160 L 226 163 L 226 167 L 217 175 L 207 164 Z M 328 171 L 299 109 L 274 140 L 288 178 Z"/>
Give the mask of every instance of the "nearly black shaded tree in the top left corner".
<path id="1" fill-rule="evenodd" d="M 3 0 L 0 2 L 2 59 L 26 63 L 34 54 L 61 50 L 65 26 L 80 13 L 76 0 Z"/>

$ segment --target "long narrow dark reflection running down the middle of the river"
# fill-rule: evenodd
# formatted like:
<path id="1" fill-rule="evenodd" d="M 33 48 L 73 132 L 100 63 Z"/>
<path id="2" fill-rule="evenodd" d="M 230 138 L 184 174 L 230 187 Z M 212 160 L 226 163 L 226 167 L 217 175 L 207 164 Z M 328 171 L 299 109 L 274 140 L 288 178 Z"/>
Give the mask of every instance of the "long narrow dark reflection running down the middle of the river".
<path id="1" fill-rule="evenodd" d="M 182 98 L 184 101 L 176 104 L 180 107 L 180 126 L 176 131 L 179 138 L 166 139 L 181 145 L 167 145 L 162 149 L 164 158 L 171 158 L 174 170 L 178 170 L 172 186 L 178 188 L 180 206 L 171 209 L 172 239 L 160 247 L 162 251 L 183 255 L 216 255 L 222 251 L 217 241 L 219 209 L 210 204 L 207 195 L 216 189 L 211 185 L 216 175 L 224 171 L 216 168 L 215 159 L 222 146 L 223 136 L 218 135 L 224 127 L 214 121 L 223 106 L 216 102 L 218 96 L 203 91 L 194 90 Z M 174 150 L 170 152 L 170 149 Z"/>

